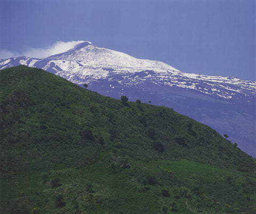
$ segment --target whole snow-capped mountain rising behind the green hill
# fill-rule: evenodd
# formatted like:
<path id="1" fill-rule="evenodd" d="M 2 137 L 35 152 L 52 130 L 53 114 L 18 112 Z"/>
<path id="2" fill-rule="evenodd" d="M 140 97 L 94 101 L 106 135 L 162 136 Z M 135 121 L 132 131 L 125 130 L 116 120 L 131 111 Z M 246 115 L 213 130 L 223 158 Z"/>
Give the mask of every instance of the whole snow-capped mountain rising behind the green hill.
<path id="1" fill-rule="evenodd" d="M 0 69 L 38 67 L 105 96 L 152 101 L 210 125 L 256 156 L 256 81 L 184 73 L 159 61 L 137 59 L 84 41 L 42 59 L 0 59 Z"/>

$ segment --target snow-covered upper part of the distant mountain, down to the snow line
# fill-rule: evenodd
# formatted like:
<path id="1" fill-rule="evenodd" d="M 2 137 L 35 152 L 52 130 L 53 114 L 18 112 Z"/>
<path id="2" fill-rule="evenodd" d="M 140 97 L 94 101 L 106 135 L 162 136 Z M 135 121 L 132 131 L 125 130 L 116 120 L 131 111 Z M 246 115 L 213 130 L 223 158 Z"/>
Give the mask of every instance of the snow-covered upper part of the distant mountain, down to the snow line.
<path id="1" fill-rule="evenodd" d="M 43 59 L 18 57 L 0 60 L 0 69 L 19 64 L 39 67 L 76 84 L 109 79 L 126 87 L 139 87 L 143 82 L 150 81 L 156 85 L 169 85 L 220 99 L 246 99 L 250 102 L 256 95 L 256 81 L 183 73 L 163 62 L 137 59 L 97 47 L 88 41 L 65 53 Z"/>

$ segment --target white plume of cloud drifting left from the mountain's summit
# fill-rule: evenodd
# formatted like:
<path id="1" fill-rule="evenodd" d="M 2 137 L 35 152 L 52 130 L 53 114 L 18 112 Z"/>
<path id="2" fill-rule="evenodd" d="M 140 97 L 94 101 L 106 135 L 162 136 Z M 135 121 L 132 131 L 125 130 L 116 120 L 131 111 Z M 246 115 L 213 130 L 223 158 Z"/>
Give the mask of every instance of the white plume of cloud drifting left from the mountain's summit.
<path id="1" fill-rule="evenodd" d="M 33 48 L 29 47 L 21 53 L 11 52 L 10 50 L 0 49 L 0 59 L 6 59 L 10 57 L 27 56 L 34 58 L 43 58 L 54 54 L 60 54 L 75 47 L 77 44 L 83 41 L 57 41 L 54 44 L 46 48 Z"/>

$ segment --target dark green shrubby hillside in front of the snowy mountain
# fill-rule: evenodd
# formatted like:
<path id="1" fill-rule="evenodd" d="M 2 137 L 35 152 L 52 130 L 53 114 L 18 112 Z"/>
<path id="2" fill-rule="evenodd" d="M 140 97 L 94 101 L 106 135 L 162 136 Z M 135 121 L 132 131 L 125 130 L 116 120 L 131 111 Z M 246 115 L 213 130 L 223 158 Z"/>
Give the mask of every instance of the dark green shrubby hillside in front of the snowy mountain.
<path id="1" fill-rule="evenodd" d="M 1 213 L 256 213 L 255 159 L 172 109 L 0 71 Z"/>

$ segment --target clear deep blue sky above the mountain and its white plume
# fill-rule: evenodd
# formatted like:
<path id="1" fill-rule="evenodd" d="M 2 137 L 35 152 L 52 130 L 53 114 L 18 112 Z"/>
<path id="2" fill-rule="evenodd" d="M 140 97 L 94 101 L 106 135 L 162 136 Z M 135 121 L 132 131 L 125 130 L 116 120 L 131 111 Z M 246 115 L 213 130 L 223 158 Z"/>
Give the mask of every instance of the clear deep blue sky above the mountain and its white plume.
<path id="1" fill-rule="evenodd" d="M 0 50 L 87 40 L 183 72 L 256 80 L 255 10 L 254 0 L 0 0 Z"/>

